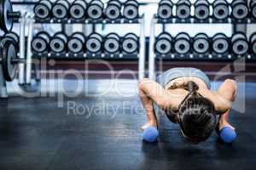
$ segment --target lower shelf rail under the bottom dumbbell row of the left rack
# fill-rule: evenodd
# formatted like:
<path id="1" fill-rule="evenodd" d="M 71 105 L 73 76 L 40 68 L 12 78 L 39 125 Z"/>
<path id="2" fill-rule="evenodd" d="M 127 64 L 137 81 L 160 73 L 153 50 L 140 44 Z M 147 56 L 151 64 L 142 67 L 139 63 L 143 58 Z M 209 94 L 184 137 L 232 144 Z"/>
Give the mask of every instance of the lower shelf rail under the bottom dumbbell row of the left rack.
<path id="1" fill-rule="evenodd" d="M 139 57 L 138 54 L 71 54 L 71 53 L 61 53 L 61 54 L 52 54 L 52 53 L 42 53 L 42 54 L 33 54 L 33 59 L 103 59 L 103 60 L 137 60 Z"/>

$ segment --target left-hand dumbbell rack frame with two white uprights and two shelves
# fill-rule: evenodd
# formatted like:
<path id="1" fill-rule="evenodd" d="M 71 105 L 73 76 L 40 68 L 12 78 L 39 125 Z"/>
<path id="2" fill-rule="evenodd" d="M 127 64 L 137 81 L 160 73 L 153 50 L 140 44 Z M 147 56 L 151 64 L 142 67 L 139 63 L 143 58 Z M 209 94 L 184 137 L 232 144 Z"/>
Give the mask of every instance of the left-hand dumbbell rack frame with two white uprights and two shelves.
<path id="1" fill-rule="evenodd" d="M 47 59 L 103 59 L 103 60 L 118 60 L 118 59 L 138 59 L 138 73 L 139 73 L 139 79 L 142 79 L 144 77 L 144 71 L 145 71 L 145 32 L 144 32 L 144 15 L 140 16 L 136 20 L 125 20 L 125 19 L 119 19 L 119 20 L 90 20 L 90 19 L 84 19 L 84 20 L 36 20 L 32 16 L 32 22 L 30 22 L 31 26 L 29 26 L 31 29 L 29 29 L 29 35 L 28 35 L 28 41 L 27 44 L 30 46 L 32 42 L 32 35 L 33 35 L 33 25 L 34 24 L 82 24 L 82 25 L 96 25 L 96 24 L 138 24 L 140 25 L 140 35 L 139 35 L 139 53 L 138 54 L 89 54 L 89 53 L 80 53 L 80 54 L 70 54 L 70 53 L 61 53 L 61 54 L 32 54 L 32 48 L 27 48 L 27 58 L 29 59 L 41 59 L 41 58 L 47 58 Z M 27 67 L 26 70 L 26 83 L 31 82 L 31 65 Z M 21 77 L 22 78 L 22 77 Z"/>

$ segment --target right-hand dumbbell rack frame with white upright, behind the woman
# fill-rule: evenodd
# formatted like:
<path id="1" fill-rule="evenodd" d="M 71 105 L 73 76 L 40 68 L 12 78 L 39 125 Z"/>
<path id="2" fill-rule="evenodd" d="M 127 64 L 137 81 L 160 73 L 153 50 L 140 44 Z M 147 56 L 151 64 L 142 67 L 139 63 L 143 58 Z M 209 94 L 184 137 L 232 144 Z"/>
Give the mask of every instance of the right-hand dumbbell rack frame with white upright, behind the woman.
<path id="1" fill-rule="evenodd" d="M 194 60 L 234 60 L 239 59 L 243 56 L 233 56 L 231 54 L 228 54 L 227 56 L 214 56 L 212 54 L 155 54 L 154 53 L 154 42 L 155 42 L 155 26 L 156 25 L 172 25 L 172 24 L 231 24 L 231 25 L 247 25 L 247 24 L 256 24 L 256 20 L 232 20 L 230 17 L 227 20 L 222 20 L 221 22 L 218 20 L 213 20 L 212 17 L 209 17 L 208 20 L 196 20 L 194 16 L 190 16 L 188 20 L 180 20 L 176 16 L 174 16 L 172 19 L 169 20 L 162 20 L 160 19 L 157 14 L 154 14 L 152 17 L 152 20 L 150 22 L 150 42 L 149 42 L 149 60 L 148 60 L 148 77 L 150 79 L 155 79 L 155 60 L 165 60 L 165 61 L 171 61 L 171 60 L 188 60 L 188 59 L 194 59 Z M 256 57 L 252 57 L 250 54 L 247 55 L 247 59 L 254 59 Z"/>

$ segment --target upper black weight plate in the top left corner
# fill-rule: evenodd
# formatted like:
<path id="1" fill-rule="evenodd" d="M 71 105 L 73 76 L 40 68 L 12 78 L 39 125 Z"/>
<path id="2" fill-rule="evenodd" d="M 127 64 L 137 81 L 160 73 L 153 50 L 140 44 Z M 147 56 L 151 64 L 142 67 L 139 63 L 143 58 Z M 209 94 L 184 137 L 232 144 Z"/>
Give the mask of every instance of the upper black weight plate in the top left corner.
<path id="1" fill-rule="evenodd" d="M 13 28 L 13 20 L 8 16 L 12 11 L 12 4 L 9 0 L 0 0 L 0 28 L 5 32 L 9 32 Z"/>

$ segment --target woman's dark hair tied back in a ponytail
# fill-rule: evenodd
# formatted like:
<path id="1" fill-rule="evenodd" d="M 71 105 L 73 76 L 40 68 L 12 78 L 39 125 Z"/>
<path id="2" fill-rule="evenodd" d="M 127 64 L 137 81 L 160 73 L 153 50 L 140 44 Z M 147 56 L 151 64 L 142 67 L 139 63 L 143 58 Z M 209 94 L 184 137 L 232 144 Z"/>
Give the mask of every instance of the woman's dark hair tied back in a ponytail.
<path id="1" fill-rule="evenodd" d="M 195 82 L 188 82 L 186 87 L 189 94 L 179 105 L 179 124 L 188 139 L 199 143 L 206 140 L 215 129 L 216 111 L 212 101 L 197 93 Z"/>

